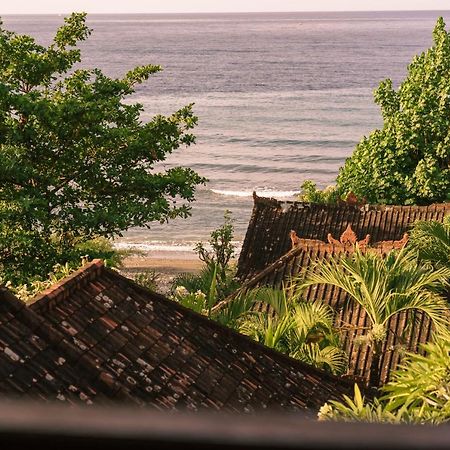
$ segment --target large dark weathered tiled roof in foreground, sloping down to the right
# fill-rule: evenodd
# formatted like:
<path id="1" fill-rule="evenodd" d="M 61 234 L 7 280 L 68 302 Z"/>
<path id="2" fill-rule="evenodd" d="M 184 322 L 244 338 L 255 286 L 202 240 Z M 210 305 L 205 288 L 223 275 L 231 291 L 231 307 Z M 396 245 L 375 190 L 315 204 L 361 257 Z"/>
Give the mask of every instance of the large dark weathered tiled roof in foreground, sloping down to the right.
<path id="1" fill-rule="evenodd" d="M 148 291 L 100 261 L 45 291 L 28 309 L 3 292 L 0 343 L 36 361 L 43 375 L 34 385 L 42 397 L 70 395 L 75 385 L 80 392 L 95 389 L 96 395 L 87 394 L 94 403 L 101 395 L 158 409 L 316 412 L 353 390 L 351 383 Z M 7 315 L 13 306 L 27 320 Z M 35 332 L 42 340 L 37 355 Z M 19 370 L 23 364 L 9 361 L 5 351 L 2 358 L 8 364 L 0 386 L 27 393 L 21 388 L 28 376 Z M 67 365 L 58 365 L 61 358 Z"/>

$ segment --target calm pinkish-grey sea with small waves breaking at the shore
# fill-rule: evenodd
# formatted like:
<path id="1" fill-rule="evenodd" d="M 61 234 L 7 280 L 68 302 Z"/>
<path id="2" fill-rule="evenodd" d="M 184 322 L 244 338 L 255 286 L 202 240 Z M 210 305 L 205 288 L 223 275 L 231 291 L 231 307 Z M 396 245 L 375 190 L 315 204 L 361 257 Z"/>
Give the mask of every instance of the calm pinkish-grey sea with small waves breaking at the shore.
<path id="1" fill-rule="evenodd" d="M 128 231 L 118 242 L 152 252 L 190 250 L 231 210 L 241 241 L 251 193 L 292 198 L 306 179 L 325 187 L 363 135 L 380 126 L 372 92 L 396 85 L 450 12 L 92 15 L 83 65 L 121 76 L 164 71 L 138 88 L 143 119 L 195 103 L 197 145 L 164 167 L 208 177 L 193 215 Z M 4 16 L 5 27 L 48 43 L 59 16 Z M 185 256 L 185 255 L 184 255 Z"/>

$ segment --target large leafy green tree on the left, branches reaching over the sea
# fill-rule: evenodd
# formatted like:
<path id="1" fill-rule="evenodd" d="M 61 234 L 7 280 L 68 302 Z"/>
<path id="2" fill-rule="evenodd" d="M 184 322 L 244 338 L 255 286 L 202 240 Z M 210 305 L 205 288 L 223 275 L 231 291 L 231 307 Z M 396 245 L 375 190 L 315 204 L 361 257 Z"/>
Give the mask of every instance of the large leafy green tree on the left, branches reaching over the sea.
<path id="1" fill-rule="evenodd" d="M 143 106 L 124 101 L 159 66 L 121 79 L 74 68 L 91 33 L 85 19 L 66 18 L 48 47 L 0 25 L 0 258 L 28 275 L 80 242 L 186 217 L 205 181 L 155 167 L 194 143 L 192 105 L 143 123 Z"/>

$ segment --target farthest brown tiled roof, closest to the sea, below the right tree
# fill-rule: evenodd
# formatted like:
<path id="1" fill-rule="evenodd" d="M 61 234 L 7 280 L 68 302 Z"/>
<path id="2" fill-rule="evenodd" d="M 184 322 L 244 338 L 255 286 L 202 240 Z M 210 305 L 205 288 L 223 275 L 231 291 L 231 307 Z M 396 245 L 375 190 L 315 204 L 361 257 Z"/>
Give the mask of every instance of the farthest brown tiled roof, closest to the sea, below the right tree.
<path id="1" fill-rule="evenodd" d="M 281 202 L 254 195 L 253 213 L 239 257 L 238 277 L 246 280 L 286 254 L 289 233 L 302 239 L 327 241 L 351 225 L 358 240 L 400 240 L 416 220 L 442 220 L 450 203 L 431 206 L 319 205 Z"/>

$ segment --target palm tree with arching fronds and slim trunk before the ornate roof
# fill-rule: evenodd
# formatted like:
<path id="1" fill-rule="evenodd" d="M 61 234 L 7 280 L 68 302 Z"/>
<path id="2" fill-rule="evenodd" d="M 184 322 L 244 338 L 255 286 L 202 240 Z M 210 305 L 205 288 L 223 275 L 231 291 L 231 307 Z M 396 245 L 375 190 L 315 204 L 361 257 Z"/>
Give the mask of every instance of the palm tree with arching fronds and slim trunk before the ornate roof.
<path id="1" fill-rule="evenodd" d="M 450 268 L 418 264 L 415 253 L 405 248 L 385 257 L 372 251 L 363 254 L 356 248 L 350 256 L 319 261 L 302 287 L 335 286 L 364 308 L 371 323 L 367 336 L 372 347 L 369 382 L 378 386 L 389 319 L 404 311 L 420 311 L 442 332 L 447 328 L 448 308 L 441 291 L 449 279 Z"/>

